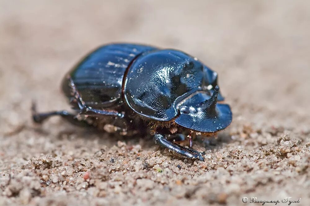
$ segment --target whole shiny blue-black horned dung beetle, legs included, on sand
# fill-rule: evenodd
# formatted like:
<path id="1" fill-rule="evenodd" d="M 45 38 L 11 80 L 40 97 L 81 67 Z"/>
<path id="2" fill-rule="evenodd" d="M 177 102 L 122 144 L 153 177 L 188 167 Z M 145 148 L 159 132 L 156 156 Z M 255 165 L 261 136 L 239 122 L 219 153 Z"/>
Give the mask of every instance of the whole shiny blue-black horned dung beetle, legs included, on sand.
<path id="1" fill-rule="evenodd" d="M 229 105 L 217 85 L 217 73 L 184 52 L 173 49 L 116 43 L 86 55 L 64 77 L 62 90 L 73 106 L 37 113 L 42 123 L 60 115 L 74 124 L 135 136 L 153 134 L 155 143 L 204 161 L 193 150 L 192 138 L 210 136 L 232 121 Z M 174 140 L 189 138 L 190 146 Z"/>

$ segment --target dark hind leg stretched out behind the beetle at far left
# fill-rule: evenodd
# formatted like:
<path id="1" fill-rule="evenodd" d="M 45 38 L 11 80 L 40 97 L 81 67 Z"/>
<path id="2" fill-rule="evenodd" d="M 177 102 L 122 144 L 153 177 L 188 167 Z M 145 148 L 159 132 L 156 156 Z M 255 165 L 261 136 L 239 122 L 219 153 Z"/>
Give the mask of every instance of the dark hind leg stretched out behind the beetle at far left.
<path id="1" fill-rule="evenodd" d="M 34 102 L 32 103 L 31 111 L 32 111 L 33 121 L 36 123 L 42 123 L 44 120 L 48 119 L 51 116 L 61 116 L 62 118 L 64 118 L 68 122 L 73 123 L 73 124 L 78 125 L 78 126 L 89 125 L 86 121 L 83 121 L 83 120 L 80 121 L 80 120 L 76 119 L 75 114 L 70 114 L 66 110 L 52 111 L 52 112 L 46 112 L 46 113 L 38 113 L 36 110 L 36 104 Z"/>

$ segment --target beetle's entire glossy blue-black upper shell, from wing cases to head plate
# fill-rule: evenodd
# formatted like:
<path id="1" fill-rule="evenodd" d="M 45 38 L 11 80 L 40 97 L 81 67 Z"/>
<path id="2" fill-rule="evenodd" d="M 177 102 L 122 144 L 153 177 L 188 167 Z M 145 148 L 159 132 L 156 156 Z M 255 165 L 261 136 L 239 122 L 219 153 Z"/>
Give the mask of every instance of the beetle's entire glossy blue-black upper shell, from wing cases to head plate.
<path id="1" fill-rule="evenodd" d="M 93 108 L 128 108 L 150 119 L 169 121 L 179 114 L 179 106 L 187 105 L 195 110 L 181 114 L 175 122 L 201 132 L 224 129 L 232 120 L 230 107 L 224 104 L 216 105 L 214 119 L 203 113 L 198 101 L 212 96 L 217 73 L 178 50 L 105 45 L 84 57 L 64 78 L 63 91 L 71 98 L 69 78 L 85 104 Z M 217 100 L 224 100 L 220 93 Z"/>

